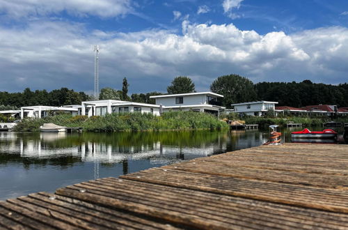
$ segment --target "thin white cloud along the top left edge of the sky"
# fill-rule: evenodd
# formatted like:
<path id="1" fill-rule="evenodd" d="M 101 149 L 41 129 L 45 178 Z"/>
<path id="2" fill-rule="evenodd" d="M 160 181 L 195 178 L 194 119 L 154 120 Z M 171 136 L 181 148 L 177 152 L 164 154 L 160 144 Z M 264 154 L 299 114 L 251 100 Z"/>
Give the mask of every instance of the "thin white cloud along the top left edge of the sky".
<path id="1" fill-rule="evenodd" d="M 0 0 L 0 13 L 10 17 L 49 15 L 63 11 L 70 15 L 116 17 L 131 10 L 131 0 Z"/>

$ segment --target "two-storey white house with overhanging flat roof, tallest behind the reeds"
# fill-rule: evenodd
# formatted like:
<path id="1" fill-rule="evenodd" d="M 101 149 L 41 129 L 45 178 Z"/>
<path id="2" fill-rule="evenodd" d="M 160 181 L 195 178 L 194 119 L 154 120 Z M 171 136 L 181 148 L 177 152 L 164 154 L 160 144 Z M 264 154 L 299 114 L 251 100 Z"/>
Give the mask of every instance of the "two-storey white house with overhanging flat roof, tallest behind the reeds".
<path id="1" fill-rule="evenodd" d="M 161 106 L 163 112 L 191 110 L 219 115 L 219 111 L 225 109 L 218 100 L 223 95 L 212 92 L 155 95 L 150 98 L 155 98 L 156 105 Z"/>

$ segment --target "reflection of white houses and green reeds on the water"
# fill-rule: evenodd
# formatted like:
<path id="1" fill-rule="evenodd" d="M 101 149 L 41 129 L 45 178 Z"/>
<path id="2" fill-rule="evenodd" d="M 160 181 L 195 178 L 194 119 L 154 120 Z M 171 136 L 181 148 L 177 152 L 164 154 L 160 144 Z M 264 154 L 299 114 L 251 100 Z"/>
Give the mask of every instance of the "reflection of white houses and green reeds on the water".
<path id="1" fill-rule="evenodd" d="M 117 134 L 20 134 L 0 132 L 0 164 L 72 165 L 77 162 L 122 164 L 127 174 L 130 162 L 147 160 L 150 164 L 170 164 L 240 148 L 258 146 L 267 139 L 262 132 L 136 132 Z M 58 159 L 59 160 L 54 160 Z M 69 158 L 68 163 L 64 158 Z M 38 160 L 37 160 L 38 159 Z M 54 160 L 54 163 L 52 161 Z M 3 161 L 3 162 L 2 162 Z"/>

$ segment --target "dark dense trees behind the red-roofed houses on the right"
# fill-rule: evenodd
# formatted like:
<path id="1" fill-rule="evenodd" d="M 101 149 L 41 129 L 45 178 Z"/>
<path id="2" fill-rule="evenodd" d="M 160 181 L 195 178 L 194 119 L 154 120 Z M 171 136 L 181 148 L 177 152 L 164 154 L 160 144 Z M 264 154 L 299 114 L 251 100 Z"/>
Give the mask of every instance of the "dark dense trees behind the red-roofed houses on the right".
<path id="1" fill-rule="evenodd" d="M 260 82 L 255 84 L 258 100 L 279 102 L 278 106 L 338 105 L 348 107 L 348 84 L 315 84 L 303 82 Z"/>

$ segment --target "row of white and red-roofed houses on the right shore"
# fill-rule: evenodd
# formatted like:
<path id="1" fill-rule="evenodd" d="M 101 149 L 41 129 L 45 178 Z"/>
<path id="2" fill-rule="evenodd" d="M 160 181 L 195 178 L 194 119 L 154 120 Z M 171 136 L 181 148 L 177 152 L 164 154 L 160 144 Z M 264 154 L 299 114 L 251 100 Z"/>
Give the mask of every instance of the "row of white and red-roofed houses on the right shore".
<path id="1" fill-rule="evenodd" d="M 270 109 L 276 116 L 282 115 L 311 115 L 311 116 L 348 116 L 348 108 L 338 108 L 337 105 L 310 105 L 301 108 L 280 106 L 278 102 L 257 101 L 232 104 L 233 112 L 247 116 L 264 116 Z"/>

